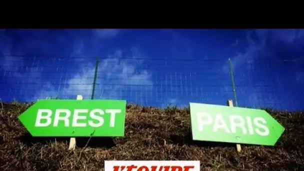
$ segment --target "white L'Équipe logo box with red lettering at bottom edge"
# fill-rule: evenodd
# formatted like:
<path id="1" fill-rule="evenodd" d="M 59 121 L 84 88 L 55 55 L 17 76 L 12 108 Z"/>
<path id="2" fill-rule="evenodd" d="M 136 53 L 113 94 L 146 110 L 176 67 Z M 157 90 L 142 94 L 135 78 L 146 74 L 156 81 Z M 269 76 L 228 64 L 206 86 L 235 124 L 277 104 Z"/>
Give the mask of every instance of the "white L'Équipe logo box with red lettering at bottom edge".
<path id="1" fill-rule="evenodd" d="M 104 171 L 199 171 L 199 160 L 111 160 Z"/>

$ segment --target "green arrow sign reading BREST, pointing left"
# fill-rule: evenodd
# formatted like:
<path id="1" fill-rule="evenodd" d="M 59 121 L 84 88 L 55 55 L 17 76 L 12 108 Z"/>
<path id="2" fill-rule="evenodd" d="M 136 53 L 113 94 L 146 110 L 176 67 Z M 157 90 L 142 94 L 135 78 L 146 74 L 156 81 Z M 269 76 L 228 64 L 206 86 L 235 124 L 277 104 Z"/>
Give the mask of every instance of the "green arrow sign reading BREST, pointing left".
<path id="1" fill-rule="evenodd" d="M 38 100 L 19 120 L 32 136 L 123 136 L 125 100 Z"/>

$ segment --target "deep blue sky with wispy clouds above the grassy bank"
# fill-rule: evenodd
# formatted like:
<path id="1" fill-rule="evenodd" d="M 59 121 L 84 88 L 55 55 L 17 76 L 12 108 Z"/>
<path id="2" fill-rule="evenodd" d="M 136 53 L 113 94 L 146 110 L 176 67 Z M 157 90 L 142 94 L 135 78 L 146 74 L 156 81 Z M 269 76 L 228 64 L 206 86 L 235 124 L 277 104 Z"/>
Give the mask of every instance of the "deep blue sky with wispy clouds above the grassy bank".
<path id="1" fill-rule="evenodd" d="M 0 98 L 304 109 L 302 29 L 0 29 Z"/>

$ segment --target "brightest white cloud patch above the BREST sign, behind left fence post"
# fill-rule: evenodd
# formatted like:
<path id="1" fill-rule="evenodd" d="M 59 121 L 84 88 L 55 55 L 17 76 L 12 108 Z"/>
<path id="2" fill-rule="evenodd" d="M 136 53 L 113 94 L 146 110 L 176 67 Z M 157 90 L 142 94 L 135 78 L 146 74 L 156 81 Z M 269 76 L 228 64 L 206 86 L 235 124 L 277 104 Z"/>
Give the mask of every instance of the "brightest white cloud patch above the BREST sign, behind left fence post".
<path id="1" fill-rule="evenodd" d="M 140 86 L 153 86 L 151 73 L 140 69 L 140 63 L 132 62 L 134 59 L 119 58 L 121 57 L 119 51 L 121 50 L 117 50 L 114 55 L 109 55 L 108 58 L 99 61 L 95 98 L 123 98 L 122 94 L 127 91 L 126 86 L 131 86 L 131 91 L 136 93 L 134 95 L 142 98 Z M 55 90 L 54 86 L 45 86 L 45 89 L 35 94 L 35 98 L 45 98 L 43 93 L 51 94 L 53 97 L 59 95 L 63 98 L 81 94 L 84 99 L 90 98 L 95 66 L 93 63 L 85 63 L 85 66 L 67 80 L 67 86 L 60 88 L 60 91 Z"/>

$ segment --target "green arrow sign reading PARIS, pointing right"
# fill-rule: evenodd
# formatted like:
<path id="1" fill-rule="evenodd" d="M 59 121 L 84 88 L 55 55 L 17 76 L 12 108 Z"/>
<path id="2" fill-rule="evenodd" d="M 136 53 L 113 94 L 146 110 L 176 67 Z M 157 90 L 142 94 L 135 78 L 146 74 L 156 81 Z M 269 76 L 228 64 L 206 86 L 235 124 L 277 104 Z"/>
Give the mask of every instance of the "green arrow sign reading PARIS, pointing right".
<path id="1" fill-rule="evenodd" d="M 190 102 L 194 140 L 274 145 L 284 131 L 265 110 Z"/>

